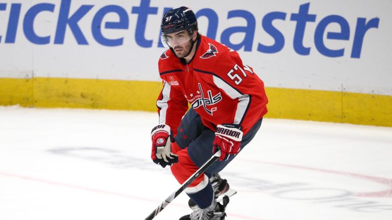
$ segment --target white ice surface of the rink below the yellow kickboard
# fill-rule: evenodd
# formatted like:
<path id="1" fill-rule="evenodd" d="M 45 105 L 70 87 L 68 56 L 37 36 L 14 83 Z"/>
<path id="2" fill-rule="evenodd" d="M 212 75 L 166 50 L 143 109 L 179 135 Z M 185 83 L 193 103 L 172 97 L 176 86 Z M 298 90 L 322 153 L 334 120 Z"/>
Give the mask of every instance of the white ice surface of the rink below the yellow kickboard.
<path id="1" fill-rule="evenodd" d="M 144 219 L 179 183 L 155 113 L 0 107 L 0 219 Z M 226 219 L 392 219 L 392 128 L 265 118 L 220 173 Z M 190 212 L 182 193 L 154 219 Z"/>

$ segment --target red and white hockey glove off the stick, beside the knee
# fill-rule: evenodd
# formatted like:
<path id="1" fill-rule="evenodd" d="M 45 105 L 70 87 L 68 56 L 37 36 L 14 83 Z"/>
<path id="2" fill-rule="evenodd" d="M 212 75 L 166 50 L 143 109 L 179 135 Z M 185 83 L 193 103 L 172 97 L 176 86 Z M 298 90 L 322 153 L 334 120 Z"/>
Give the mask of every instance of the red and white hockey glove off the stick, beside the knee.
<path id="1" fill-rule="evenodd" d="M 158 125 L 151 131 L 151 140 L 153 141 L 151 159 L 163 168 L 178 162 L 178 155 L 171 153 L 170 136 L 173 140 L 168 125 Z"/>

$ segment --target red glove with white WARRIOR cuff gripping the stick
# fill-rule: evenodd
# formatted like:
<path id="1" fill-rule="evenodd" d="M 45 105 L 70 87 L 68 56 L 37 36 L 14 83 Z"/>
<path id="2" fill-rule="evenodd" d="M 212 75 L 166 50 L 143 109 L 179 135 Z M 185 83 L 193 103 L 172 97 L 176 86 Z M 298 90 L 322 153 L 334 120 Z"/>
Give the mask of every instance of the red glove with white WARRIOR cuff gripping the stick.
<path id="1" fill-rule="evenodd" d="M 219 160 L 228 160 L 230 155 L 235 155 L 239 152 L 241 147 L 243 132 L 237 124 L 222 124 L 216 126 L 215 139 L 213 142 L 216 152 L 217 147 L 220 148 L 222 155 Z"/>

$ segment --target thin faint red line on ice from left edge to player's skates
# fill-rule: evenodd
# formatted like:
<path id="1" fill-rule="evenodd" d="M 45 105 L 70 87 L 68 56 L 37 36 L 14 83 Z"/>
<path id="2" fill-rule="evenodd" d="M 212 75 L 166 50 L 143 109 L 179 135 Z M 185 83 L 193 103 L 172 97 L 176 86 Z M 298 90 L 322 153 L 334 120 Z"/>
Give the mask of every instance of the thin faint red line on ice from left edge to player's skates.
<path id="1" fill-rule="evenodd" d="M 17 175 L 17 174 L 10 174 L 10 173 L 5 173 L 0 171 L 0 175 L 6 176 L 6 177 L 11 177 L 11 178 L 18 178 L 18 179 L 23 179 L 23 180 L 28 180 L 28 181 L 34 181 L 34 182 L 40 182 L 40 183 L 45 183 L 45 184 L 50 184 L 50 185 L 55 185 L 55 186 L 62 186 L 62 187 L 67 187 L 67 188 L 73 188 L 73 189 L 82 189 L 86 191 L 91 191 L 94 193 L 100 193 L 100 194 L 106 194 L 110 196 L 119 196 L 119 197 L 126 197 L 130 199 L 135 199 L 135 200 L 143 200 L 147 202 L 153 202 L 153 203 L 160 203 L 162 201 L 158 200 L 153 200 L 153 199 L 148 199 L 144 197 L 138 197 L 138 196 L 133 196 L 133 195 L 127 195 L 127 194 L 122 194 L 122 193 L 116 193 L 113 191 L 108 191 L 108 190 L 103 190 L 103 189 L 94 189 L 94 188 L 89 188 L 85 186 L 78 186 L 78 185 L 72 185 L 68 183 L 61 183 L 61 182 L 55 182 L 55 181 L 50 181 L 50 180 L 44 180 L 44 179 L 39 179 L 39 178 L 34 178 L 34 177 L 28 177 L 28 176 L 22 176 L 22 175 Z M 188 206 L 185 205 L 178 205 L 178 204 L 172 204 L 174 206 L 182 207 L 182 208 L 187 208 Z M 228 214 L 232 217 L 237 217 L 241 219 L 249 219 L 249 220 L 267 220 L 265 218 L 257 218 L 257 217 L 251 217 L 251 216 L 244 216 L 244 215 L 238 215 L 234 213 L 228 212 Z"/>

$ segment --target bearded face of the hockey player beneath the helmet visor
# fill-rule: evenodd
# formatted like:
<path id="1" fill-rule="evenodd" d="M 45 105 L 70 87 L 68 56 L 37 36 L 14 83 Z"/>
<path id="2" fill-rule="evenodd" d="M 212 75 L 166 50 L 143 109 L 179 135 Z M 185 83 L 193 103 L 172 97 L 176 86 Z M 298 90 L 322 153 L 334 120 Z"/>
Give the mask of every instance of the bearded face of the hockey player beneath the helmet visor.
<path id="1" fill-rule="evenodd" d="M 178 58 L 184 58 L 189 54 L 189 51 L 192 49 L 192 43 L 190 41 L 192 37 L 187 31 L 165 35 L 167 44 L 173 48 Z"/>

